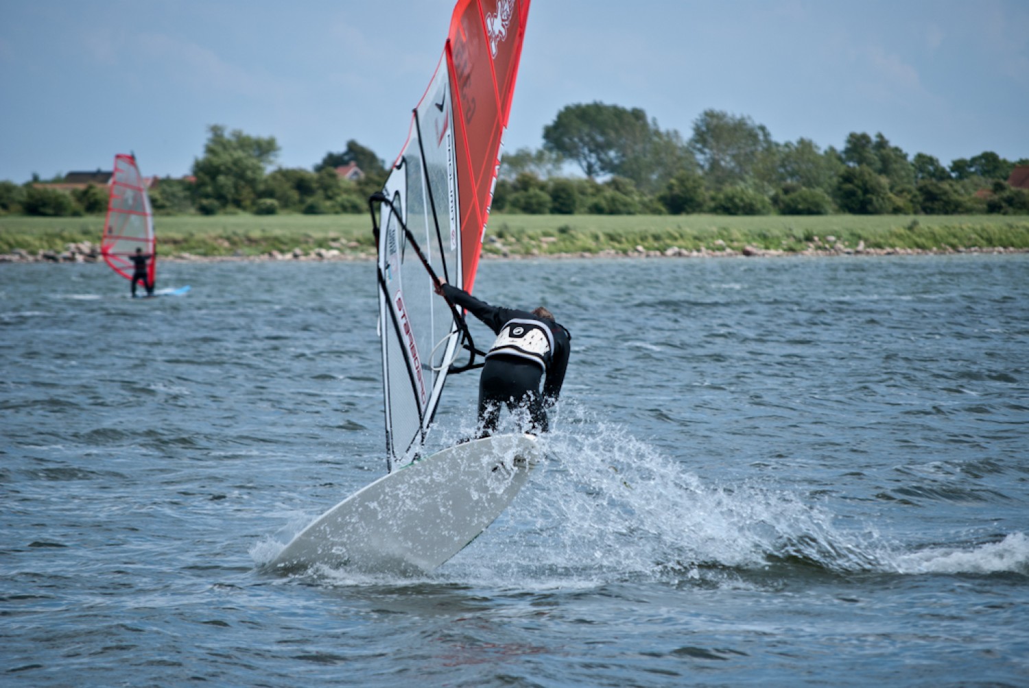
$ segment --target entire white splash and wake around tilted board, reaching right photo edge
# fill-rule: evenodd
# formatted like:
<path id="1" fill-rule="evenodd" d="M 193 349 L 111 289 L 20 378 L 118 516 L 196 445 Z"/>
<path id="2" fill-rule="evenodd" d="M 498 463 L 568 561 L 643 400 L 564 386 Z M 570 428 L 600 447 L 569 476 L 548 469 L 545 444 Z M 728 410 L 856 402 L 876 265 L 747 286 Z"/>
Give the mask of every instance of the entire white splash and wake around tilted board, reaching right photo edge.
<path id="1" fill-rule="evenodd" d="M 844 527 L 827 502 L 811 503 L 760 477 L 732 484 L 704 479 L 625 428 L 574 406 L 563 412 L 560 429 L 541 438 L 546 459 L 512 505 L 471 546 L 415 580 L 538 589 L 634 580 L 764 585 L 810 576 L 1029 574 L 1029 539 L 1020 533 L 971 549 L 911 552 L 868 520 L 850 517 Z M 703 473 L 703 459 L 690 461 Z M 251 549 L 258 566 L 311 515 L 290 517 L 278 537 Z M 305 574 L 311 575 L 330 584 L 390 584 L 346 571 Z"/>

